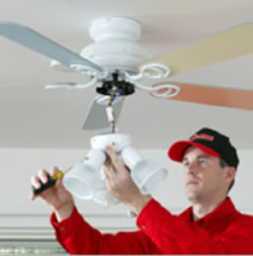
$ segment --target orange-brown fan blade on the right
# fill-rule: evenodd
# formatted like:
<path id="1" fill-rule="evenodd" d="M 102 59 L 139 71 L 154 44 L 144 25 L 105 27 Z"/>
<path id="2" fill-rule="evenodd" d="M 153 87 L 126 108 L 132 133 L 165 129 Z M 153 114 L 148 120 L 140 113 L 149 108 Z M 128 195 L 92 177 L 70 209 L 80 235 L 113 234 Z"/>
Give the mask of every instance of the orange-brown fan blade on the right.
<path id="1" fill-rule="evenodd" d="M 253 91 L 199 86 L 196 84 L 183 84 L 179 82 L 173 82 L 171 84 L 180 87 L 180 93 L 175 97 L 164 99 L 188 101 L 204 105 L 225 106 L 226 108 L 239 108 L 242 110 L 253 110 Z M 159 85 L 161 84 L 156 84 L 156 86 Z M 158 93 L 164 93 L 164 89 L 159 90 Z M 151 95 L 154 96 L 153 94 Z M 157 96 L 154 97 L 159 98 Z"/>

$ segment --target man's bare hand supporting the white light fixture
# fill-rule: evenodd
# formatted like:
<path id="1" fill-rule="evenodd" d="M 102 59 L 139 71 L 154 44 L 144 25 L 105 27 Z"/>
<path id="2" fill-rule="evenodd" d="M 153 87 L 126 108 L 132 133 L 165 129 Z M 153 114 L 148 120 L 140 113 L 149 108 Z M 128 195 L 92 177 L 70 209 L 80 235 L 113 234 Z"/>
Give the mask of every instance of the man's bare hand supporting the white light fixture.
<path id="1" fill-rule="evenodd" d="M 142 195 L 130 176 L 130 170 L 124 165 L 111 146 L 106 147 L 106 154 L 108 159 L 104 163 L 102 171 L 106 177 L 108 190 L 120 202 L 130 207 L 135 214 L 139 214 L 151 200 L 151 196 Z"/>

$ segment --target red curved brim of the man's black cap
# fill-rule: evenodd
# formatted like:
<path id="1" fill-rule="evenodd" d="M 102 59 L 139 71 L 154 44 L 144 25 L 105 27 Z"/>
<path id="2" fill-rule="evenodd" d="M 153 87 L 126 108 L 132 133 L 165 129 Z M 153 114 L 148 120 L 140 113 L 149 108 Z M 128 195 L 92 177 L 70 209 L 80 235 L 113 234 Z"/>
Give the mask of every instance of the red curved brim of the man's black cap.
<path id="1" fill-rule="evenodd" d="M 168 157 L 170 157 L 171 160 L 173 161 L 182 162 L 185 150 L 187 150 L 189 146 L 194 146 L 195 148 L 199 148 L 205 153 L 209 155 L 213 155 L 215 157 L 221 156 L 218 152 L 214 151 L 211 148 L 208 148 L 207 146 L 201 143 L 196 143 L 193 141 L 177 141 L 176 143 L 172 144 L 170 149 L 168 150 Z"/>

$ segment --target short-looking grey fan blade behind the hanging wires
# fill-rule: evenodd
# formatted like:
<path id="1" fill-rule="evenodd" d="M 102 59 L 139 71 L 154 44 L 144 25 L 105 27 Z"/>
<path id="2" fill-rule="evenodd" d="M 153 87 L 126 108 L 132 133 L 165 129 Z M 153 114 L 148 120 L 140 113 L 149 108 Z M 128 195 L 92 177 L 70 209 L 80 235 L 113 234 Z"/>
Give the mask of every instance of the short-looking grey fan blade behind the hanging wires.
<path id="1" fill-rule="evenodd" d="M 83 130 L 99 130 L 109 127 L 110 124 L 106 114 L 106 105 L 97 103 L 97 100 L 102 97 L 104 96 L 97 96 L 93 99 L 82 126 Z M 118 117 L 120 115 L 124 100 L 125 97 L 120 97 L 118 101 L 113 104 L 115 122 L 118 122 Z"/>

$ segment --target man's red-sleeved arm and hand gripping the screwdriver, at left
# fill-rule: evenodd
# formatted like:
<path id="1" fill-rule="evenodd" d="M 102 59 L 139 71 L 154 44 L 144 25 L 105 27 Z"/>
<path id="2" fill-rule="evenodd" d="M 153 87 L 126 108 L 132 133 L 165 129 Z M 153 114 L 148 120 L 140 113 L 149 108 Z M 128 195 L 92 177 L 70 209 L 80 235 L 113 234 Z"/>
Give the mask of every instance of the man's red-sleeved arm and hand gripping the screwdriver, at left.
<path id="1" fill-rule="evenodd" d="M 51 176 L 59 169 L 54 167 Z M 32 176 L 32 186 L 40 188 L 41 182 L 48 181 L 49 173 L 40 170 L 39 176 Z M 159 253 L 152 241 L 141 231 L 132 233 L 101 234 L 85 222 L 75 208 L 71 194 L 59 179 L 54 186 L 39 195 L 31 193 L 31 199 L 42 198 L 49 204 L 54 214 L 51 217 L 52 226 L 56 231 L 59 243 L 72 254 L 152 254 Z"/>

